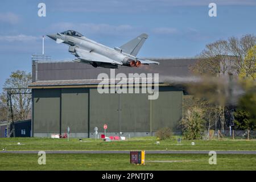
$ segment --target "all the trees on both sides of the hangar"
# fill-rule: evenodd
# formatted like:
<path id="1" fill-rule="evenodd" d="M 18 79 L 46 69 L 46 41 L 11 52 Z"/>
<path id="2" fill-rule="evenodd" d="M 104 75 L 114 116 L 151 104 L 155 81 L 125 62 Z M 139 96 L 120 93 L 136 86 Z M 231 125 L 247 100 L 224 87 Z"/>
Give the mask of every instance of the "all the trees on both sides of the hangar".
<path id="1" fill-rule="evenodd" d="M 180 122 L 184 133 L 191 135 L 190 138 L 198 138 L 198 133 L 203 130 L 227 129 L 230 120 L 234 120 L 236 130 L 255 130 L 256 37 L 244 35 L 241 38 L 232 36 L 227 40 L 217 40 L 207 44 L 197 57 L 197 63 L 190 69 L 205 80 L 199 85 L 188 85 L 191 94 L 184 97 L 185 112 Z M 229 82 L 225 84 L 225 80 L 222 81 L 230 74 L 236 77 L 237 84 L 243 90 L 235 107 L 228 104 L 229 100 L 236 99 L 235 96 L 225 95 L 230 89 L 227 86 Z M 3 87 L 26 88 L 31 80 L 31 73 L 16 71 L 6 79 Z M 12 97 L 14 121 L 31 118 L 31 95 L 14 94 Z M 7 90 L 3 90 L 0 94 L 0 122 L 7 120 Z"/>

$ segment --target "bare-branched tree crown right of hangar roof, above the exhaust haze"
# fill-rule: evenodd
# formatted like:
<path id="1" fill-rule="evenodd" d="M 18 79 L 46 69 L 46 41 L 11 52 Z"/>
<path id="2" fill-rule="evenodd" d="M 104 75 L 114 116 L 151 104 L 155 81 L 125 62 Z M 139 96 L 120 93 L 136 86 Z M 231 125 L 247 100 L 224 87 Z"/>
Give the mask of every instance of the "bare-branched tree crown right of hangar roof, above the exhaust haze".
<path id="1" fill-rule="evenodd" d="M 230 71 L 235 71 L 239 75 L 247 52 L 255 45 L 256 37 L 250 34 L 240 39 L 232 36 L 228 40 L 217 40 L 205 46 L 198 56 L 201 59 L 192 70 L 210 76 L 226 75 Z"/>

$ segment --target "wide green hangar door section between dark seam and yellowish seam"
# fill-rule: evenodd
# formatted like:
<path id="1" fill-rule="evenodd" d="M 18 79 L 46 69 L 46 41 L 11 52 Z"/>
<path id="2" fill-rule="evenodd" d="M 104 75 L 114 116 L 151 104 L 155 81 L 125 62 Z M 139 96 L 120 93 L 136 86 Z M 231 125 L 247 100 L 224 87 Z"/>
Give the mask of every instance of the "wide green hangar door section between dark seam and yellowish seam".
<path id="1" fill-rule="evenodd" d="M 104 133 L 118 135 L 120 132 L 132 134 L 150 131 L 150 101 L 147 94 L 100 94 L 96 88 L 90 89 L 90 137 L 94 127 Z M 142 135 L 142 134 L 141 134 Z"/>

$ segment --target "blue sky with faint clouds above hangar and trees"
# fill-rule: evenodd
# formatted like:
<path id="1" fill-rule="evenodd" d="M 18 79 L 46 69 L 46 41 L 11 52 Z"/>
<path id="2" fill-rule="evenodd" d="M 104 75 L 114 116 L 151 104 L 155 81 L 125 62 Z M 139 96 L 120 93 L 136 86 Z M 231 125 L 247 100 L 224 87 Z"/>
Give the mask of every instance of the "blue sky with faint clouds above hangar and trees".
<path id="1" fill-rule="evenodd" d="M 46 17 L 38 4 L 46 3 Z M 209 17 L 209 3 L 217 17 Z M 1 0 L 0 89 L 10 73 L 31 72 L 31 55 L 42 53 L 42 35 L 77 30 L 106 46 L 149 35 L 138 56 L 191 57 L 205 44 L 229 36 L 256 34 L 256 0 Z M 72 60 L 68 47 L 46 38 L 52 60 Z"/>

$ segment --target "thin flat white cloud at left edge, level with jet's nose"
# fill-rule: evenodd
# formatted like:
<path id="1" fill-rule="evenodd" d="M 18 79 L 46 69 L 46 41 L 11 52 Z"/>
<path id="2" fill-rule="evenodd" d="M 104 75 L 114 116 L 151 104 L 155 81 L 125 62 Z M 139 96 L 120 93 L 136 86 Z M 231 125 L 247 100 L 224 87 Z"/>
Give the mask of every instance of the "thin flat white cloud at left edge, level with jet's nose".
<path id="1" fill-rule="evenodd" d="M 35 42 L 36 40 L 39 40 L 39 37 L 31 36 L 31 35 L 0 35 L 0 41 L 4 42 Z"/>

